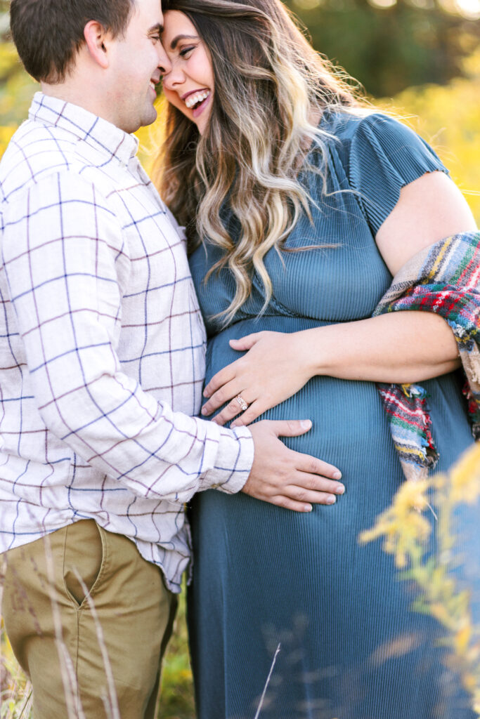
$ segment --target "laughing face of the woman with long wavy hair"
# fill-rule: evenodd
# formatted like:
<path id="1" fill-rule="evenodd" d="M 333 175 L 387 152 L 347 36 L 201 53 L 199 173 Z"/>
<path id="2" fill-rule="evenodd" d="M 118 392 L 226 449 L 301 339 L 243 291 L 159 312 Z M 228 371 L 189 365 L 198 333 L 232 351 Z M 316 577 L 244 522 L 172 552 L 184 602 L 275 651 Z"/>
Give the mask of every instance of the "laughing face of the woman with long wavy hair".
<path id="1" fill-rule="evenodd" d="M 162 44 L 171 61 L 171 70 L 163 75 L 163 92 L 203 134 L 214 91 L 210 53 L 183 12 L 168 10 L 163 27 Z"/>

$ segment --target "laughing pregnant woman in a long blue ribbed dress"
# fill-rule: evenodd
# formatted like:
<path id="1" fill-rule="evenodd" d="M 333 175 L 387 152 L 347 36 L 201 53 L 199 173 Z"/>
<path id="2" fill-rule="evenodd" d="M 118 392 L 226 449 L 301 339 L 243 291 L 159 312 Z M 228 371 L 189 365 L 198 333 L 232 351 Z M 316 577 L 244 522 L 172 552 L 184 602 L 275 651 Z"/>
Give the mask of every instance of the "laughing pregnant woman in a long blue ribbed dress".
<path id="1" fill-rule="evenodd" d="M 430 147 L 362 106 L 278 0 L 163 9 L 161 184 L 207 323 L 203 413 L 309 416 L 289 446 L 340 467 L 346 486 L 309 513 L 197 496 L 199 719 L 253 719 L 260 705 L 262 719 L 471 719 L 435 622 L 410 610 L 381 546 L 357 538 L 404 480 L 375 383 L 422 381 L 439 470 L 471 444 L 446 322 L 371 315 L 399 267 L 474 219 Z"/>

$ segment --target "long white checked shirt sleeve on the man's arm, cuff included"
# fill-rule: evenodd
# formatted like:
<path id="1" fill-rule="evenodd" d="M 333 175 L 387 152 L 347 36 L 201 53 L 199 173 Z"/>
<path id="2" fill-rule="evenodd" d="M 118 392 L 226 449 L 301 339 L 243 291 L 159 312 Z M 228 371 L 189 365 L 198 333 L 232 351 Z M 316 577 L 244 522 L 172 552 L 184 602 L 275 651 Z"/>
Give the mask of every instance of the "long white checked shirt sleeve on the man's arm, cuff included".
<path id="1" fill-rule="evenodd" d="M 239 491 L 246 428 L 173 412 L 122 372 L 122 294 L 132 271 L 108 202 L 73 173 L 40 180 L 4 214 L 2 260 L 47 429 L 136 495 L 179 503 Z"/>

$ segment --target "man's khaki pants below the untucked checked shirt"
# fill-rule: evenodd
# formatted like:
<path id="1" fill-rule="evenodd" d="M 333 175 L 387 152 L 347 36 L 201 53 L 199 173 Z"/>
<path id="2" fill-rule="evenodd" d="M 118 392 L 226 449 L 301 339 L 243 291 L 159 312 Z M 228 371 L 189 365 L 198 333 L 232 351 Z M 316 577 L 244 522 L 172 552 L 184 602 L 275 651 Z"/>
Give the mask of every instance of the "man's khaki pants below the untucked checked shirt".
<path id="1" fill-rule="evenodd" d="M 158 567 L 93 520 L 4 557 L 2 615 L 32 680 L 35 719 L 153 719 L 176 611 Z"/>

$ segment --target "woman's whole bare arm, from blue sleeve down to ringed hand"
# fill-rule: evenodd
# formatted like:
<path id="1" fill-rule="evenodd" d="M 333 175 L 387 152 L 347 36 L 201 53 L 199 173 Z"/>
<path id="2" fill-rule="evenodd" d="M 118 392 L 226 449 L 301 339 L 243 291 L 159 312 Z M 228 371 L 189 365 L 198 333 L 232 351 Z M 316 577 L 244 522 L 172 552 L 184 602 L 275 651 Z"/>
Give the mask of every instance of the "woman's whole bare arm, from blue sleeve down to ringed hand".
<path id="1" fill-rule="evenodd" d="M 376 242 L 392 275 L 421 249 L 458 232 L 476 229 L 460 191 L 440 172 L 422 175 L 402 188 Z M 231 346 L 247 354 L 215 375 L 205 388 L 202 412 L 225 423 L 240 413 L 241 395 L 250 407 L 235 425 L 248 424 L 294 395 L 314 375 L 384 383 L 419 382 L 459 366 L 448 324 L 432 313 L 404 311 L 370 319 L 282 334 L 260 332 Z M 230 401 L 232 400 L 232 401 Z"/>

